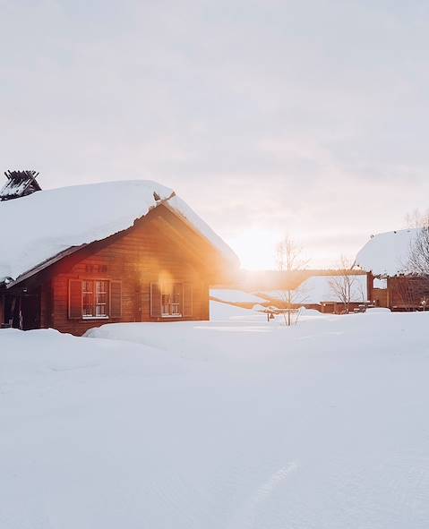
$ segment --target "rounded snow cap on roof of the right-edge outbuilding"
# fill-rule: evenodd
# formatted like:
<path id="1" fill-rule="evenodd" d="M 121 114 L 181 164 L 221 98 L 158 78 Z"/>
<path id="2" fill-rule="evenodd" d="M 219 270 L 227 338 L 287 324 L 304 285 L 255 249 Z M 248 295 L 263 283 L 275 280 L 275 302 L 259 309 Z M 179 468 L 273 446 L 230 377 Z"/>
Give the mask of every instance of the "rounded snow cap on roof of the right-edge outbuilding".
<path id="1" fill-rule="evenodd" d="M 373 235 L 356 255 L 356 266 L 374 276 L 394 277 L 408 271 L 418 228 Z"/>

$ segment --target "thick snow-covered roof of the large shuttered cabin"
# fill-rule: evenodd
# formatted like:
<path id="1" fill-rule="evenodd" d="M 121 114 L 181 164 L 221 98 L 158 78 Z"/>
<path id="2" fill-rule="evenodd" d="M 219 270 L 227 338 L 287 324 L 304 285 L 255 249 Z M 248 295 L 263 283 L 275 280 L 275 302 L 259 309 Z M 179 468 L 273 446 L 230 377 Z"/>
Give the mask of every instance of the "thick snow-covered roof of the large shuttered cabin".
<path id="1" fill-rule="evenodd" d="M 105 239 L 133 226 L 136 218 L 144 217 L 161 201 L 226 260 L 238 264 L 227 243 L 172 189 L 147 180 L 105 182 L 40 191 L 0 202 L 0 282 L 16 279 L 71 247 Z"/>

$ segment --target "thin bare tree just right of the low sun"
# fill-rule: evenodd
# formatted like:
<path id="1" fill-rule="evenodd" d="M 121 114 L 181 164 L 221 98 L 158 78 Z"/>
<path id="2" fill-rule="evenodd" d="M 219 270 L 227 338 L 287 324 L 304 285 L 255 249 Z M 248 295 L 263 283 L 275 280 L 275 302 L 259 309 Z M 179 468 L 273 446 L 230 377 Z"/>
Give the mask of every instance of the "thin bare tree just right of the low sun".
<path id="1" fill-rule="evenodd" d="M 277 245 L 277 266 L 280 272 L 295 272 L 303 270 L 308 265 L 308 260 L 303 257 L 303 247 L 297 244 L 292 237 L 286 235 Z M 279 292 L 279 297 L 286 305 L 286 312 L 283 313 L 287 327 L 295 324 L 298 318 L 296 311 L 295 318 L 292 311 L 296 309 L 296 304 L 305 303 L 305 291 L 298 286 L 292 289 L 290 286 Z"/>

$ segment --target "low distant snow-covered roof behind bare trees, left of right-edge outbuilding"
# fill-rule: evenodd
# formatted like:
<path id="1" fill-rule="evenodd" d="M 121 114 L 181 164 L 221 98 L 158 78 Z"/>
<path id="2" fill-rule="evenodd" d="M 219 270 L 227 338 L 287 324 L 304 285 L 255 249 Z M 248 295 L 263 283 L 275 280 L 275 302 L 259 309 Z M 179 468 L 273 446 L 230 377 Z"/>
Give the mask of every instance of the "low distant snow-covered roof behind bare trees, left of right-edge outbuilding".
<path id="1" fill-rule="evenodd" d="M 292 294 L 292 303 L 303 305 L 305 304 L 319 304 L 322 302 L 341 302 L 339 294 L 336 293 L 332 287 L 332 281 L 335 277 L 341 276 L 312 276 L 302 283 Z M 366 301 L 366 275 L 365 274 L 351 274 L 352 278 L 350 302 L 359 303 Z M 271 290 L 264 293 L 270 299 L 279 301 L 286 301 L 287 296 L 284 290 Z"/>

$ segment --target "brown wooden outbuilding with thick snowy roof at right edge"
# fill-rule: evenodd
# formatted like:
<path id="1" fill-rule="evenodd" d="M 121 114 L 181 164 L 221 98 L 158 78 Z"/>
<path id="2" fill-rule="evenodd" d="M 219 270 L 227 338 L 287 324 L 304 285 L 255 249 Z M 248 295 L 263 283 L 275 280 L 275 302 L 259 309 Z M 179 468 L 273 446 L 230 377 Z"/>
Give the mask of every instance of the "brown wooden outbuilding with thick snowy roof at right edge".
<path id="1" fill-rule="evenodd" d="M 419 228 L 372 235 L 356 255 L 355 265 L 367 272 L 368 296 L 392 311 L 425 310 L 429 280 L 412 273 L 410 255 Z"/>

